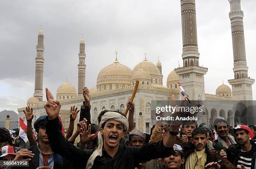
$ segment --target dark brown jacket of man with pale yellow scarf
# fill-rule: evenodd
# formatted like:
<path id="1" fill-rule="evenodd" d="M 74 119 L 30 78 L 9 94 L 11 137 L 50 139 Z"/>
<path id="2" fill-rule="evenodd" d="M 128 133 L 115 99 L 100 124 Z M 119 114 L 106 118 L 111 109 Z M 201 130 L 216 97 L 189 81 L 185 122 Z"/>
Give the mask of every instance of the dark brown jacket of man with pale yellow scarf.
<path id="1" fill-rule="evenodd" d="M 188 142 L 187 147 L 185 149 L 187 149 L 187 153 L 185 154 L 186 155 L 185 157 L 187 159 L 187 157 L 189 157 L 189 155 L 195 151 L 195 146 L 191 142 Z M 210 162 L 218 162 L 218 164 L 220 164 L 221 169 L 236 169 L 236 167 L 233 164 L 231 164 L 228 160 L 221 158 L 219 153 L 215 149 L 210 150 L 206 146 L 205 151 L 206 151 L 205 166 Z M 183 165 L 183 168 L 185 168 L 185 165 L 186 165 L 186 162 Z"/>

